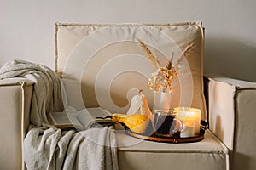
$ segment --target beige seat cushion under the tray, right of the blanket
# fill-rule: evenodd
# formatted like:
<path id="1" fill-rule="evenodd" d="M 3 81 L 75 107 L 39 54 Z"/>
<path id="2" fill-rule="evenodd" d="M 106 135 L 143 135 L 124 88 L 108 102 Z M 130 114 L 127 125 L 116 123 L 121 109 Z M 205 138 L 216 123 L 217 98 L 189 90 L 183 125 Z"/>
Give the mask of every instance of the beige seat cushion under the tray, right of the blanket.
<path id="1" fill-rule="evenodd" d="M 169 144 L 136 139 L 116 133 L 119 169 L 227 170 L 229 152 L 215 136 L 206 131 L 200 142 Z"/>

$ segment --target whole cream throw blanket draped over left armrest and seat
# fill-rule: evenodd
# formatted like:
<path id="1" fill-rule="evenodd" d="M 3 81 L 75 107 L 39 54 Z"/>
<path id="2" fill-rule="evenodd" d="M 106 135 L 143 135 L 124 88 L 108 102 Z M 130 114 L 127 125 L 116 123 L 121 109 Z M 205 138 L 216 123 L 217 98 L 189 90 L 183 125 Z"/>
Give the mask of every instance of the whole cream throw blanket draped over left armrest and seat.
<path id="1" fill-rule="evenodd" d="M 118 169 L 113 129 L 61 131 L 49 125 L 49 111 L 63 111 L 61 80 L 44 65 L 11 61 L 0 69 L 0 79 L 26 77 L 33 82 L 31 126 L 23 144 L 27 169 Z"/>

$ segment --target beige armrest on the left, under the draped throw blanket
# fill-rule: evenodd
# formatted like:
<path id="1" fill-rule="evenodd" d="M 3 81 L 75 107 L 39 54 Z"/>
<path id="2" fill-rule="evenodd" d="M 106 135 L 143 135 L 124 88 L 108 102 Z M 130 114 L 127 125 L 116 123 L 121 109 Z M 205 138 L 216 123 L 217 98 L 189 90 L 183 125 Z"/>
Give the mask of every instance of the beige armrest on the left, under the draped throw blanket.
<path id="1" fill-rule="evenodd" d="M 22 82 L 26 82 L 23 87 Z M 24 78 L 0 80 L 0 94 L 1 169 L 21 169 L 21 147 L 29 123 L 32 82 Z"/>

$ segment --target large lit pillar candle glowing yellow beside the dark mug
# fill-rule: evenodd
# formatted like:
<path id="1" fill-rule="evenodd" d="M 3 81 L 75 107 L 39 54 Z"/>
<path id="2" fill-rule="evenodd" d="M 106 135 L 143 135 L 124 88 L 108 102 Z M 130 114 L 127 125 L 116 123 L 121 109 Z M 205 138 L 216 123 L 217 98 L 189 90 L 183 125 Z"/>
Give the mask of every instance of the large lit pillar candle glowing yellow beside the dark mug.
<path id="1" fill-rule="evenodd" d="M 186 124 L 195 124 L 195 135 L 200 133 L 201 110 L 191 107 L 175 107 L 177 111 L 176 118 Z"/>

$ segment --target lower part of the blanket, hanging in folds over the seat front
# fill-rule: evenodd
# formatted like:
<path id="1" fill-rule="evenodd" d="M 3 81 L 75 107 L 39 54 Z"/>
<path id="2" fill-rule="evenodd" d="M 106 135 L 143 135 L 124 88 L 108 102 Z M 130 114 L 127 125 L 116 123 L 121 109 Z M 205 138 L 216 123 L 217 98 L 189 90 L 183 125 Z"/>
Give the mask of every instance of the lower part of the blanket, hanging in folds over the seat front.
<path id="1" fill-rule="evenodd" d="M 26 135 L 23 154 L 27 169 L 117 170 L 113 129 L 91 128 L 75 132 L 32 128 Z"/>

